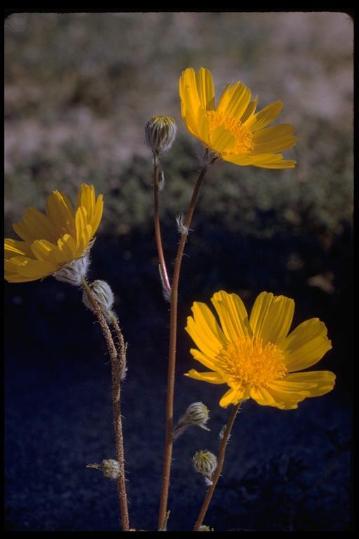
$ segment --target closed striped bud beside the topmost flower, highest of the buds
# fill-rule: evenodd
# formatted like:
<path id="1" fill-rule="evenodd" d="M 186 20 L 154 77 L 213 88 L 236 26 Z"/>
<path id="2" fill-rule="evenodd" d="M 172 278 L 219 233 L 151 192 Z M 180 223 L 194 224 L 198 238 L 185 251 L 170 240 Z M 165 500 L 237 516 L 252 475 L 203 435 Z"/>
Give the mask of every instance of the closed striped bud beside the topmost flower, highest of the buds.
<path id="1" fill-rule="evenodd" d="M 146 141 L 155 156 L 172 146 L 177 133 L 175 119 L 170 116 L 153 116 L 145 128 Z"/>

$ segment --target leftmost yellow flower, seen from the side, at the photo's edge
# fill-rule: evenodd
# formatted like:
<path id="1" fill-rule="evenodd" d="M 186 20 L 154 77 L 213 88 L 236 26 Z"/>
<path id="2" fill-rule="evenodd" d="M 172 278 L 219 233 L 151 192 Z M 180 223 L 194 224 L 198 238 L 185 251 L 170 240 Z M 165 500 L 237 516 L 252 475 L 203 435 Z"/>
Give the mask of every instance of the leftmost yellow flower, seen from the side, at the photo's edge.
<path id="1" fill-rule="evenodd" d="M 13 229 L 22 239 L 5 239 L 5 279 L 10 283 L 36 281 L 55 274 L 89 251 L 103 209 L 103 196 L 95 199 L 93 185 L 83 183 L 76 209 L 67 196 L 54 191 L 46 202 L 46 215 L 27 208 Z"/>

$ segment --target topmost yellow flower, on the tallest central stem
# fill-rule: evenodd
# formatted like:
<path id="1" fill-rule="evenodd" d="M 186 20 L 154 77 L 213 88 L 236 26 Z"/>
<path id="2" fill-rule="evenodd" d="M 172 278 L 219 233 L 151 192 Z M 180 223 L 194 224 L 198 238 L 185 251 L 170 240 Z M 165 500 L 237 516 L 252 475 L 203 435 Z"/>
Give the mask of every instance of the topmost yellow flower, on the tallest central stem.
<path id="1" fill-rule="evenodd" d="M 281 101 L 255 113 L 258 98 L 251 101 L 247 86 L 236 82 L 226 85 L 215 107 L 212 74 L 203 67 L 197 73 L 191 67 L 182 72 L 179 96 L 185 126 L 215 156 L 242 166 L 294 168 L 296 161 L 277 153 L 295 144 L 293 127 L 267 127 L 280 114 Z"/>

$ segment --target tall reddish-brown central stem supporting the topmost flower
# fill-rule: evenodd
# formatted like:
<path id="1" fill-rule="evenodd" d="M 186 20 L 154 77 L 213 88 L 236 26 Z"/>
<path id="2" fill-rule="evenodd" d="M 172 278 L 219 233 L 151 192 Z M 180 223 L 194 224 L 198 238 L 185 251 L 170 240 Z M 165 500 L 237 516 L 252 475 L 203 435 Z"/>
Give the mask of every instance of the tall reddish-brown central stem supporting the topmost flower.
<path id="1" fill-rule="evenodd" d="M 198 192 L 207 172 L 207 166 L 204 166 L 198 176 L 198 180 L 194 187 L 191 202 L 184 220 L 184 230 L 188 231 L 191 225 L 194 208 L 198 199 Z M 173 399 L 175 394 L 175 366 L 176 366 L 176 345 L 177 345 L 177 304 L 178 304 L 178 284 L 179 272 L 181 270 L 182 257 L 184 246 L 187 241 L 188 232 L 183 232 L 179 240 L 177 255 L 175 259 L 175 269 L 173 271 L 172 293 L 171 293 L 171 314 L 170 314 L 170 350 L 168 358 L 168 389 L 167 389 L 167 404 L 166 404 L 166 430 L 165 430 L 165 453 L 163 458 L 163 477 L 161 503 L 158 515 L 158 529 L 163 528 L 163 523 L 167 514 L 168 489 L 170 487 L 170 470 L 172 458 L 172 430 L 173 430 Z"/>

